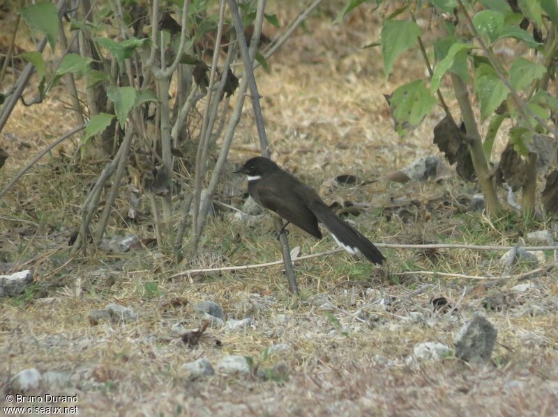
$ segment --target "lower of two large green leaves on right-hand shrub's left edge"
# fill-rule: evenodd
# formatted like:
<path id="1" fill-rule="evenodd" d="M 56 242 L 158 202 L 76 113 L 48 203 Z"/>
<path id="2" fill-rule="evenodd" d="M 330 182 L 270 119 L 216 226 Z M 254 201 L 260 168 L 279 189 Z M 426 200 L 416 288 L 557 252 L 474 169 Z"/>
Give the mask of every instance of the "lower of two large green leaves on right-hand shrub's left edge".
<path id="1" fill-rule="evenodd" d="M 407 132 L 407 127 L 421 123 L 435 104 L 436 100 L 422 79 L 400 86 L 393 91 L 390 98 L 395 130 L 402 136 Z"/>

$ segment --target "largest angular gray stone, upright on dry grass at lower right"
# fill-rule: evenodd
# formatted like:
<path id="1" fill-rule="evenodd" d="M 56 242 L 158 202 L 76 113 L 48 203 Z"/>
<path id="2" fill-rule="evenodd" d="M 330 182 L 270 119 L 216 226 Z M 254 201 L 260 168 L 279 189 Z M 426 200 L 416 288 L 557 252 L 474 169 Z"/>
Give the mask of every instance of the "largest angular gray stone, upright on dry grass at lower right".
<path id="1" fill-rule="evenodd" d="M 467 362 L 488 361 L 497 335 L 497 329 L 485 317 L 476 315 L 455 338 L 455 356 Z"/>

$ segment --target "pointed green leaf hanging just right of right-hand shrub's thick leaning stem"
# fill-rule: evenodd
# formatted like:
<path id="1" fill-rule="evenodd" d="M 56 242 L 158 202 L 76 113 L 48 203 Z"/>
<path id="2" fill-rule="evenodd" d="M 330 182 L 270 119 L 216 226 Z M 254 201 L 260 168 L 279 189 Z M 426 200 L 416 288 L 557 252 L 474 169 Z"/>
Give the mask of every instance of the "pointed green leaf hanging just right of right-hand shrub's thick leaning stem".
<path id="1" fill-rule="evenodd" d="M 481 64 L 476 69 L 475 93 L 481 104 L 481 119 L 485 120 L 508 96 L 508 88 L 489 65 Z"/>

